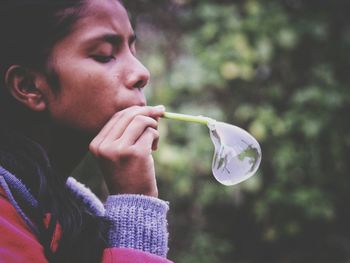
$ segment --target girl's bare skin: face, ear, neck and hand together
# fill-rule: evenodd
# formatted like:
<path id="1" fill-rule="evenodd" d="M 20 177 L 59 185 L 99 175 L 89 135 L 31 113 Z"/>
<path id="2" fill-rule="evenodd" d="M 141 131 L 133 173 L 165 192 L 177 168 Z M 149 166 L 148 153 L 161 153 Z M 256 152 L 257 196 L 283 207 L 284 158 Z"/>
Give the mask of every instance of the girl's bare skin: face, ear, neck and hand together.
<path id="1" fill-rule="evenodd" d="M 44 145 L 58 168 L 69 172 L 89 147 L 110 194 L 157 197 L 152 150 L 164 107 L 146 106 L 143 88 L 150 76 L 135 57 L 134 31 L 124 7 L 114 0 L 90 0 L 86 12 L 52 49 L 58 94 L 42 72 L 31 72 L 36 88 L 25 90 L 18 66 L 8 71 L 8 86 L 28 108 L 48 113 L 50 121 L 40 131 L 34 128 L 31 137 Z"/>

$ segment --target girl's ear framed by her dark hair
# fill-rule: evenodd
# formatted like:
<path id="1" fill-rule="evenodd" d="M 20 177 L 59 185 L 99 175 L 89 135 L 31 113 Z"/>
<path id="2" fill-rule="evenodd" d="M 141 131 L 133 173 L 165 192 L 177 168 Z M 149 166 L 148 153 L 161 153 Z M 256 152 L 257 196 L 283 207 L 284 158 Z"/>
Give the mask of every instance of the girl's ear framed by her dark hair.
<path id="1" fill-rule="evenodd" d="M 12 96 L 33 111 L 46 109 L 43 92 L 35 85 L 35 73 L 25 67 L 12 65 L 6 72 L 5 83 Z"/>

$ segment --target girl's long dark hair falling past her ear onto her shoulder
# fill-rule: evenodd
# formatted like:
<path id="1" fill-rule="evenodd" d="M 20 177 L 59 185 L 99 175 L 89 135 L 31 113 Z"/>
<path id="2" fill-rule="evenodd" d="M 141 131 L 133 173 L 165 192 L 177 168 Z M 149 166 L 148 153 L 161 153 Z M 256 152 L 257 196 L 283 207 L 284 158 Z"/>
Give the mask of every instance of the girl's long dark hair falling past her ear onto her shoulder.
<path id="1" fill-rule="evenodd" d="M 87 0 L 0 2 L 0 164 L 20 178 L 38 199 L 39 209 L 29 213 L 37 220 L 39 240 L 50 262 L 99 262 L 105 246 L 105 222 L 71 196 L 65 187 L 66 177 L 55 174 L 41 146 L 20 134 L 21 125 L 28 125 L 26 120 L 35 125 L 36 119 L 46 116 L 17 103 L 4 88 L 4 75 L 9 66 L 17 64 L 41 70 L 55 83 L 49 61 L 51 49 L 84 15 L 86 4 Z M 62 229 L 54 254 L 50 252 L 52 228 L 42 223 L 46 212 L 52 215 L 51 225 L 58 221 Z"/>

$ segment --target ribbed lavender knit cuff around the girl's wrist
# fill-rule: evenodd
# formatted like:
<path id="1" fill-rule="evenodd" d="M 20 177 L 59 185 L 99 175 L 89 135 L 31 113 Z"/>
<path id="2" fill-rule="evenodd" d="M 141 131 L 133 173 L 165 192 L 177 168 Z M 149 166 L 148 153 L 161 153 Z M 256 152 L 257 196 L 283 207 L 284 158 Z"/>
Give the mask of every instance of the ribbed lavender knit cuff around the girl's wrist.
<path id="1" fill-rule="evenodd" d="M 144 195 L 112 195 L 106 201 L 109 247 L 134 248 L 166 257 L 167 202 Z"/>

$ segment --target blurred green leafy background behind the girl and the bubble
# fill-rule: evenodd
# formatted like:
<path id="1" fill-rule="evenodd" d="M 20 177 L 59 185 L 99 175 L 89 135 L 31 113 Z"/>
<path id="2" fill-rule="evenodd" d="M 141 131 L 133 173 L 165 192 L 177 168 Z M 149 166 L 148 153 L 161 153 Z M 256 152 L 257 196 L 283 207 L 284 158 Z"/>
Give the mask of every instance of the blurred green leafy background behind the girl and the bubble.
<path id="1" fill-rule="evenodd" d="M 223 186 L 206 127 L 161 120 L 169 258 L 350 262 L 350 2 L 124 2 L 152 73 L 149 104 L 233 123 L 263 152 L 254 177 Z M 91 159 L 79 169 L 103 198 Z"/>

